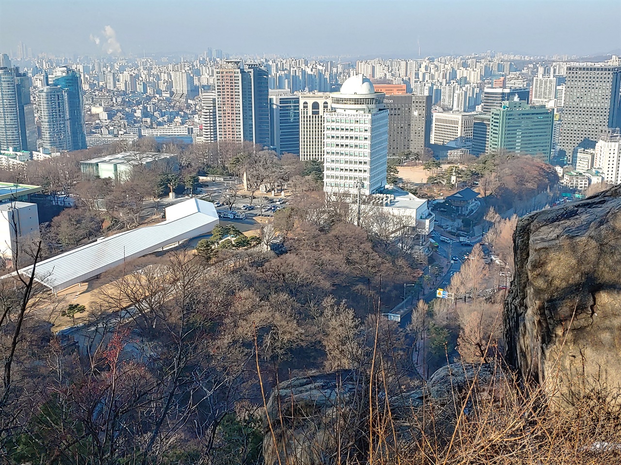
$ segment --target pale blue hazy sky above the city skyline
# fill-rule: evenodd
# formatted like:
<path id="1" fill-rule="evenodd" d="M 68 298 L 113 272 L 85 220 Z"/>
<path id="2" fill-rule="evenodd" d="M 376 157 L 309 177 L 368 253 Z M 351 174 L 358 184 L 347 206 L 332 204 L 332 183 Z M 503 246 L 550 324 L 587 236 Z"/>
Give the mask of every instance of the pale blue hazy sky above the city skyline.
<path id="1" fill-rule="evenodd" d="M 0 0 L 0 53 L 422 56 L 621 48 L 621 0 Z"/>

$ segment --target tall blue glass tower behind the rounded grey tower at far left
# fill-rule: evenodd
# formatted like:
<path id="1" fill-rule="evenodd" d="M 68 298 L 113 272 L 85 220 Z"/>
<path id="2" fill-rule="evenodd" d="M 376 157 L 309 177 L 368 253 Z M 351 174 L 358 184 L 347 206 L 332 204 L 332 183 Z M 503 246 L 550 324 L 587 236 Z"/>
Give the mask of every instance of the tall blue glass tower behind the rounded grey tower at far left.
<path id="1" fill-rule="evenodd" d="M 71 68 L 57 69 L 56 74 L 61 76 L 54 79 L 53 85 L 63 89 L 66 95 L 67 124 L 71 135 L 71 148 L 67 150 L 86 149 L 82 80 L 79 73 Z"/>

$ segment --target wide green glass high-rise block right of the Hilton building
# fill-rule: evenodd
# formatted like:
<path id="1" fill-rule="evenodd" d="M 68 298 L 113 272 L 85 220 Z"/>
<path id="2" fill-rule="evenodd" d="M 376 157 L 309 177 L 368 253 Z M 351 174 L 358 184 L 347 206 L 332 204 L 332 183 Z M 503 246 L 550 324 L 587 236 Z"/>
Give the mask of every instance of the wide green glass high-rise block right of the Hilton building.
<path id="1" fill-rule="evenodd" d="M 505 102 L 492 110 L 487 150 L 531 155 L 550 162 L 554 110 L 525 102 Z"/>

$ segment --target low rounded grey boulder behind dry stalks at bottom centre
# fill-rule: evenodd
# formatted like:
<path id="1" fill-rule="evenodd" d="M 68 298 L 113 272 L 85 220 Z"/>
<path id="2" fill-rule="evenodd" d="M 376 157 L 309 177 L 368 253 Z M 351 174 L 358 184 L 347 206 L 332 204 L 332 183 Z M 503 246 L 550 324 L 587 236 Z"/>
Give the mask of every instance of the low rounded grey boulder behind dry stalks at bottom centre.
<path id="1" fill-rule="evenodd" d="M 355 463 L 368 437 L 368 384 L 356 371 L 292 378 L 271 393 L 266 465 Z"/>

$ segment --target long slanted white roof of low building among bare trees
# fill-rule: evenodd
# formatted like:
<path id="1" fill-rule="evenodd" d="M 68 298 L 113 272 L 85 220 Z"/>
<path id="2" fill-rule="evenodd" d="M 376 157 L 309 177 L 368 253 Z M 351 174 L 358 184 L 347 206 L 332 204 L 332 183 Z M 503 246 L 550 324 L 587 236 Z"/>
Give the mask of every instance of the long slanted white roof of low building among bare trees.
<path id="1" fill-rule="evenodd" d="M 213 203 L 191 199 L 166 208 L 166 221 L 120 232 L 37 263 L 35 280 L 58 291 L 175 242 L 207 234 L 219 223 Z M 32 266 L 21 270 L 29 275 Z"/>

